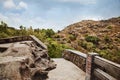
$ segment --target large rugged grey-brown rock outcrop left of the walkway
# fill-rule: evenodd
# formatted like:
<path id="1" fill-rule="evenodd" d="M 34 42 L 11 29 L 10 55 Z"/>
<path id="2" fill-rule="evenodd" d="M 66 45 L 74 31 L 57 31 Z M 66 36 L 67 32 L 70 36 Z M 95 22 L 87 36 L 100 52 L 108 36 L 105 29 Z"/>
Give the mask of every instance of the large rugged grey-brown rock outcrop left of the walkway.
<path id="1" fill-rule="evenodd" d="M 45 80 L 48 72 L 56 67 L 47 50 L 32 40 L 7 45 L 0 53 L 0 80 Z"/>

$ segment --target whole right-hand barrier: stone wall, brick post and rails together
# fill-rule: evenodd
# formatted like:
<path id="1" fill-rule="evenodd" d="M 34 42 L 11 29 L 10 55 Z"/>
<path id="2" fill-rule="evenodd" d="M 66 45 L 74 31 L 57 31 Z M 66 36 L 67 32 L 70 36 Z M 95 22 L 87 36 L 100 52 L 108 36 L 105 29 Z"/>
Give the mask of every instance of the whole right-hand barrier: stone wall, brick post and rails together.
<path id="1" fill-rule="evenodd" d="M 101 58 L 96 53 L 86 55 L 66 49 L 63 52 L 63 58 L 85 71 L 85 80 L 120 80 L 120 65 Z"/>

